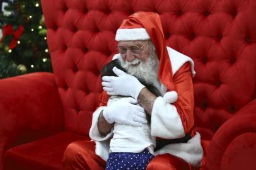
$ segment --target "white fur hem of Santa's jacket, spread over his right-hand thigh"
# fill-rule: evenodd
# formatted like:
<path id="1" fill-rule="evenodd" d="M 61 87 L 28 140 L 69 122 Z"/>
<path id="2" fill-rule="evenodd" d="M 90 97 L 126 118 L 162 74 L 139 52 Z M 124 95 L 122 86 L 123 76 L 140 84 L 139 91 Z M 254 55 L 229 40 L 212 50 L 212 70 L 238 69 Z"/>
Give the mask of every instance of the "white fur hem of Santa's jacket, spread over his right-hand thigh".
<path id="1" fill-rule="evenodd" d="M 156 151 L 154 154 L 158 155 L 165 153 L 180 157 L 194 167 L 201 166 L 204 152 L 202 150 L 200 134 L 196 132 L 196 135 L 192 137 L 192 139 L 190 139 L 187 143 L 166 145 L 162 149 Z"/>

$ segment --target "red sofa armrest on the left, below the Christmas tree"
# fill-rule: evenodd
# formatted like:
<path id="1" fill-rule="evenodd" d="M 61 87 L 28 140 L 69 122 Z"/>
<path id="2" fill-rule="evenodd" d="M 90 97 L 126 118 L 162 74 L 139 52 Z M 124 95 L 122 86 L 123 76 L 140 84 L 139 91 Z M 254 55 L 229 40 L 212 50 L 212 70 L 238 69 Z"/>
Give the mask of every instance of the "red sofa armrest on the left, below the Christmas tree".
<path id="1" fill-rule="evenodd" d="M 63 129 L 54 74 L 36 72 L 0 80 L 0 164 L 6 149 Z"/>

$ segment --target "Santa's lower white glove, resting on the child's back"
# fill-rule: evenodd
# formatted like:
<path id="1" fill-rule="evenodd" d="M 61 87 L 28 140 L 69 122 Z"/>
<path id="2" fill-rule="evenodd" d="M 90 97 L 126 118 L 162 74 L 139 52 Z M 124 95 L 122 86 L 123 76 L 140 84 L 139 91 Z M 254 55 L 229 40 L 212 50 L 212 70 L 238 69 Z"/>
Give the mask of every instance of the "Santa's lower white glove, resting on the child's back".
<path id="1" fill-rule="evenodd" d="M 143 123 L 148 123 L 146 113 L 141 106 L 137 106 L 137 100 L 124 98 L 115 101 L 112 105 L 103 110 L 103 116 L 108 123 L 120 123 L 141 127 Z"/>

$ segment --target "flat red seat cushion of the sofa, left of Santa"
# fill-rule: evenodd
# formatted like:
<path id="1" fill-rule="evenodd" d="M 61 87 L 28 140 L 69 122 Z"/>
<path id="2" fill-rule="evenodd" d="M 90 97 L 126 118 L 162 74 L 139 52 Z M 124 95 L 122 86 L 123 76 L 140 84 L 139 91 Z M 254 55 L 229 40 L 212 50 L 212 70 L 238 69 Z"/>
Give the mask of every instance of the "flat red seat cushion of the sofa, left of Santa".
<path id="1" fill-rule="evenodd" d="M 60 132 L 13 147 L 6 152 L 4 169 L 62 169 L 61 161 L 64 150 L 68 144 L 76 140 L 90 140 L 90 138 L 71 132 Z"/>

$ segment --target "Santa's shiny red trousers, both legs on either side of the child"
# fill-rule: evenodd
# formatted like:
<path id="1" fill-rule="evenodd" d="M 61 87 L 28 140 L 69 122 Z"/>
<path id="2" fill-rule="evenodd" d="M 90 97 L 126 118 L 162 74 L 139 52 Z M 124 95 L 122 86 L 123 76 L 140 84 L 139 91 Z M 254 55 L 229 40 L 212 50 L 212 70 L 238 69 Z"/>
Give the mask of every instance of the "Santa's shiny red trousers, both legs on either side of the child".
<path id="1" fill-rule="evenodd" d="M 68 145 L 64 152 L 62 165 L 65 170 L 102 170 L 105 169 L 106 162 L 99 156 L 96 156 L 95 142 L 76 141 Z M 162 154 L 154 157 L 147 167 L 147 170 L 158 169 L 194 170 L 195 168 L 178 157 L 170 154 Z"/>

